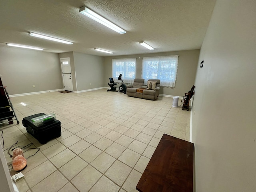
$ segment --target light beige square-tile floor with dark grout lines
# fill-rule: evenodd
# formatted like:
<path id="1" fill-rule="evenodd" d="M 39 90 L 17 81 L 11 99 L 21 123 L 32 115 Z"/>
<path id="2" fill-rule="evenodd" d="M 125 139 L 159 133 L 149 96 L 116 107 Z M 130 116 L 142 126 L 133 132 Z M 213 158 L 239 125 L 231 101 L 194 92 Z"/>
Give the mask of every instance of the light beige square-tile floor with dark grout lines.
<path id="1" fill-rule="evenodd" d="M 164 133 L 189 140 L 190 112 L 172 107 L 172 98 L 144 100 L 101 89 L 11 101 L 20 124 L 0 125 L 10 174 L 17 172 L 7 148 L 17 141 L 15 147 L 33 143 L 30 148 L 40 148 L 38 153 L 24 150 L 28 166 L 16 183 L 20 192 L 136 192 Z M 22 119 L 37 113 L 56 114 L 62 135 L 42 145 L 28 134 Z"/>

